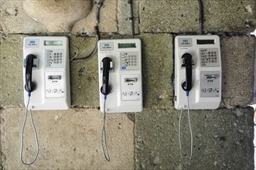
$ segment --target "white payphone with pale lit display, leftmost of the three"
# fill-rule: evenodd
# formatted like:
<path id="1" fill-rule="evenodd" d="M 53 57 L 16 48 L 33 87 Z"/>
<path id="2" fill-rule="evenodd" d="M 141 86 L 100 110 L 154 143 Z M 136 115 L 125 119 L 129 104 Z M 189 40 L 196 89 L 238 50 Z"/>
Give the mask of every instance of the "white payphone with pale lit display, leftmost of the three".
<path id="1" fill-rule="evenodd" d="M 31 36 L 23 42 L 24 102 L 32 110 L 70 108 L 68 39 L 64 36 Z"/>

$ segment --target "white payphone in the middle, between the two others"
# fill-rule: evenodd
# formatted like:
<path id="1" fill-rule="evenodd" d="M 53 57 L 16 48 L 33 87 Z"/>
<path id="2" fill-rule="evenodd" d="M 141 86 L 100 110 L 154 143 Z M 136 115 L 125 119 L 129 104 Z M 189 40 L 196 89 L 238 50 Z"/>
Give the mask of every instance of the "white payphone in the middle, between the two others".
<path id="1" fill-rule="evenodd" d="M 142 49 L 140 39 L 98 42 L 101 112 L 142 111 Z M 104 97 L 108 97 L 104 107 Z"/>

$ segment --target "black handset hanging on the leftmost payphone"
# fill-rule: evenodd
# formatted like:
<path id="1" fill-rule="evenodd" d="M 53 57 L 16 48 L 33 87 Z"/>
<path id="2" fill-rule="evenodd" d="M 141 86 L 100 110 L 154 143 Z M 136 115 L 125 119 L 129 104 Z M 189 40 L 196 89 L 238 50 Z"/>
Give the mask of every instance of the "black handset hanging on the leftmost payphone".
<path id="1" fill-rule="evenodd" d="M 36 89 L 36 83 L 32 82 L 32 67 L 34 59 L 36 59 L 36 56 L 33 54 L 26 56 L 25 90 L 29 93 Z"/>

